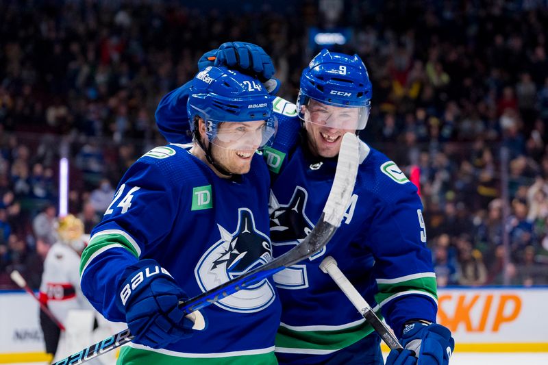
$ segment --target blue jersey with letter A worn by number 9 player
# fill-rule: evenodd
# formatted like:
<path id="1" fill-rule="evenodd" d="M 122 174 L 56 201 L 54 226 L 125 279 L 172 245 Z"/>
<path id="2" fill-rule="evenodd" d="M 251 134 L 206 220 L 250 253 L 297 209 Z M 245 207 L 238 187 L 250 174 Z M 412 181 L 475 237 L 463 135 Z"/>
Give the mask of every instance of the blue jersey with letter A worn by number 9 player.
<path id="1" fill-rule="evenodd" d="M 279 130 L 264 156 L 272 173 L 271 240 L 278 257 L 314 228 L 336 159 L 315 158 L 303 149 L 295 105 L 277 99 L 275 110 Z M 408 320 L 436 320 L 436 279 L 416 187 L 386 155 L 364 143 L 361 149 L 356 188 L 332 240 L 310 259 L 275 275 L 282 301 L 277 353 L 326 354 L 373 331 L 320 270 L 327 255 L 397 336 Z"/>

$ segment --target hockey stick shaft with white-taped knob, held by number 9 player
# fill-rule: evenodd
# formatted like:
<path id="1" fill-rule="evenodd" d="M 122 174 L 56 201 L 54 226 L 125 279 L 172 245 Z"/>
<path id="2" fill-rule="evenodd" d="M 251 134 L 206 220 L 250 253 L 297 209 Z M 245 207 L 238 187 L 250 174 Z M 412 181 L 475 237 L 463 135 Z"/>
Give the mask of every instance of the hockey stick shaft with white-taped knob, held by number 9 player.
<path id="1" fill-rule="evenodd" d="M 382 340 L 386 342 L 390 350 L 394 349 L 403 349 L 401 344 L 399 344 L 398 339 L 394 336 L 394 333 L 382 323 L 382 320 L 377 317 L 377 314 L 373 312 L 369 304 L 365 301 L 364 297 L 356 290 L 352 283 L 345 277 L 345 274 L 338 268 L 337 262 L 331 256 L 325 257 L 320 264 L 320 268 L 324 273 L 329 274 L 329 276 L 335 281 L 340 290 L 343 290 L 345 295 L 350 299 L 354 307 L 362 314 L 365 320 L 379 333 Z"/>

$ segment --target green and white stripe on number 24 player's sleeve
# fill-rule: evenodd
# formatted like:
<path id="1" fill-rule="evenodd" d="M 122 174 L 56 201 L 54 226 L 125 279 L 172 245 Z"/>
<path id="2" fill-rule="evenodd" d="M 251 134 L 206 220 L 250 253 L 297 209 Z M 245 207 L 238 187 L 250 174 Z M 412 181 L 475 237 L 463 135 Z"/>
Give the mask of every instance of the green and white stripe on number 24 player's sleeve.
<path id="1" fill-rule="evenodd" d="M 139 258 L 141 253 L 138 244 L 124 231 L 119 231 L 117 229 L 101 231 L 93 235 L 88 247 L 82 252 L 82 258 L 80 259 L 80 275 L 84 273 L 86 266 L 88 266 L 99 253 L 114 247 L 123 247 L 137 258 Z"/>

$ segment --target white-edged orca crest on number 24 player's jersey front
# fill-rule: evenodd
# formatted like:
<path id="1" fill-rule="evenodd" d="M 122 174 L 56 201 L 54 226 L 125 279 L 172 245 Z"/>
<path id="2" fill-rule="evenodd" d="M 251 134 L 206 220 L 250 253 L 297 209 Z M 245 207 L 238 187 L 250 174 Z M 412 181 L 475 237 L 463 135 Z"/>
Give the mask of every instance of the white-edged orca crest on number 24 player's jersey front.
<path id="1" fill-rule="evenodd" d="M 219 224 L 217 227 L 221 240 L 203 254 L 195 268 L 203 292 L 272 261 L 269 236 L 255 228 L 253 213 L 247 208 L 238 210 L 238 227 L 234 233 L 229 233 Z M 274 299 L 274 289 L 264 279 L 214 304 L 232 312 L 250 313 L 268 307 Z"/>

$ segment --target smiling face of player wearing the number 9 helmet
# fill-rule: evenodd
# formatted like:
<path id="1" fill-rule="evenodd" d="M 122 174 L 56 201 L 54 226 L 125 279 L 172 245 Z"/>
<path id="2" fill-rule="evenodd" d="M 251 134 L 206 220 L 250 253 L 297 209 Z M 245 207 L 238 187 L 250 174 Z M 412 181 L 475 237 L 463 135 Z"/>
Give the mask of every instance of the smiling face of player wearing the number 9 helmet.
<path id="1" fill-rule="evenodd" d="M 312 153 L 324 158 L 338 155 L 344 134 L 356 132 L 359 108 L 327 105 L 313 99 L 303 108 L 308 147 Z"/>

